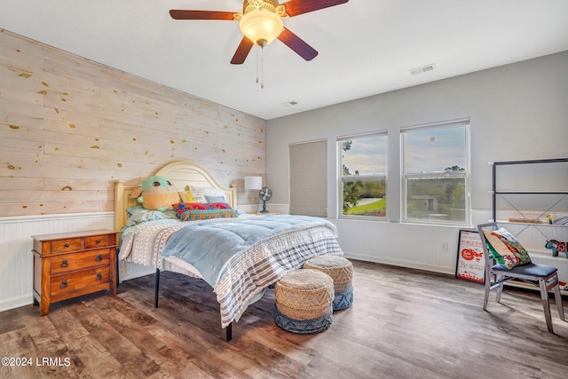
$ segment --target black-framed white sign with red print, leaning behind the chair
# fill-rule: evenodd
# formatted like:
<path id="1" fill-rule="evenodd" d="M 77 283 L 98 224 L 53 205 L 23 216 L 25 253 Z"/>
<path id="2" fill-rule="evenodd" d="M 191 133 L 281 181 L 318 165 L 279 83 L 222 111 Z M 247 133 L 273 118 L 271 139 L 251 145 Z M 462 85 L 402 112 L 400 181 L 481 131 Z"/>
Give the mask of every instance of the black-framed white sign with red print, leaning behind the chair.
<path id="1" fill-rule="evenodd" d="M 485 283 L 485 255 L 476 231 L 460 230 L 455 277 Z"/>

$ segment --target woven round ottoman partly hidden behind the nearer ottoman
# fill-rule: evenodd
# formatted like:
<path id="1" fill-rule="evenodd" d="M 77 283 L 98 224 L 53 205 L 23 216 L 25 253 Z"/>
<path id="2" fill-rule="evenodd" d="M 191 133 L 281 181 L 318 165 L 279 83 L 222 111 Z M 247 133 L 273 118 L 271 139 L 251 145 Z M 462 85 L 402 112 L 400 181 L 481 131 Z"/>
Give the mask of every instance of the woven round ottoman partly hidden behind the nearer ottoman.
<path id="1" fill-rule="evenodd" d="M 334 280 L 334 311 L 349 308 L 353 303 L 353 264 L 344 257 L 319 256 L 308 259 L 304 269 L 325 272 Z"/>

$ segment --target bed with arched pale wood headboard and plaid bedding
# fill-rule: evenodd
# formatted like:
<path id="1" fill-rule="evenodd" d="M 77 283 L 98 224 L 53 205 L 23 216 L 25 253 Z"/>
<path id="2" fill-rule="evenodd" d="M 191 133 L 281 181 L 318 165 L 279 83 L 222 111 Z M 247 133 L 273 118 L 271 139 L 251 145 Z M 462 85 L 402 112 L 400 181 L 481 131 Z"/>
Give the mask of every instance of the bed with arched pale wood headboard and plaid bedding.
<path id="1" fill-rule="evenodd" d="M 215 194 L 217 200 L 222 195 L 237 217 L 181 221 L 171 214 L 166 217 L 168 211 L 164 215 L 140 211 L 136 199 L 131 199 L 134 186 L 117 181 L 114 227 L 121 232 L 119 262 L 155 268 L 155 307 L 161 271 L 207 281 L 220 304 L 221 328 L 227 341 L 232 338 L 233 321 L 286 272 L 301 268 L 311 257 L 343 255 L 335 225 L 326 219 L 240 212 L 236 187 L 222 186 L 199 164 L 172 162 L 154 175 L 168 178 L 182 194 L 201 188 Z"/>

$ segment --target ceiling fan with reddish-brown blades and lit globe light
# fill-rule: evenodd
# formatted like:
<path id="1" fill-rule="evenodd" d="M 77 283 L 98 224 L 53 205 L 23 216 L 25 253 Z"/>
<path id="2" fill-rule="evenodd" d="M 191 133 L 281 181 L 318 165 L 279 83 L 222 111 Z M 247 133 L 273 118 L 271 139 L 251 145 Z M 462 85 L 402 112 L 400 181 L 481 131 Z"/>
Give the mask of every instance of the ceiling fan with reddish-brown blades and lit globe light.
<path id="1" fill-rule="evenodd" d="M 247 59 L 252 46 L 264 47 L 278 38 L 305 60 L 312 60 L 318 51 L 303 39 L 284 28 L 283 18 L 294 17 L 307 12 L 319 11 L 349 0 L 289 0 L 280 4 L 278 0 L 244 0 L 242 13 L 220 11 L 170 10 L 175 20 L 230 20 L 239 21 L 243 34 L 241 43 L 235 51 L 231 63 L 242 64 Z"/>

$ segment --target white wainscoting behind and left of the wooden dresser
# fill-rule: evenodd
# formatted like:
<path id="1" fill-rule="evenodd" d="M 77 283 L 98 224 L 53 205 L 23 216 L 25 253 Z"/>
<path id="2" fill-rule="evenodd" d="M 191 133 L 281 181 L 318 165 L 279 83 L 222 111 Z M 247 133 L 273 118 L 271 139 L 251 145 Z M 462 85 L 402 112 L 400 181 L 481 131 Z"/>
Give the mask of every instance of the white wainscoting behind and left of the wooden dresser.
<path id="1" fill-rule="evenodd" d="M 33 302 L 32 235 L 114 230 L 114 212 L 0 217 L 0 312 Z"/>

